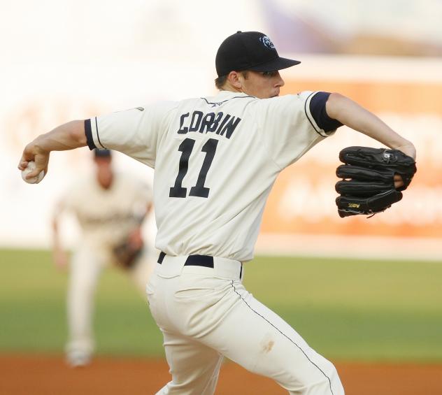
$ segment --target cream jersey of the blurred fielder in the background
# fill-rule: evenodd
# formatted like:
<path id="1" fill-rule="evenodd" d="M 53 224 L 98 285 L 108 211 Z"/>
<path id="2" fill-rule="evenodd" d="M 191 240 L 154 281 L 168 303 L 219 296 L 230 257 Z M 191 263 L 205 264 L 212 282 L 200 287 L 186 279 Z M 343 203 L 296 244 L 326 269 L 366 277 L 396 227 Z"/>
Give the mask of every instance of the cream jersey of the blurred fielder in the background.
<path id="1" fill-rule="evenodd" d="M 109 189 L 99 185 L 95 173 L 76 182 L 62 207 L 77 217 L 83 237 L 96 247 L 112 248 L 136 229 L 152 201 L 147 184 L 115 172 Z"/>

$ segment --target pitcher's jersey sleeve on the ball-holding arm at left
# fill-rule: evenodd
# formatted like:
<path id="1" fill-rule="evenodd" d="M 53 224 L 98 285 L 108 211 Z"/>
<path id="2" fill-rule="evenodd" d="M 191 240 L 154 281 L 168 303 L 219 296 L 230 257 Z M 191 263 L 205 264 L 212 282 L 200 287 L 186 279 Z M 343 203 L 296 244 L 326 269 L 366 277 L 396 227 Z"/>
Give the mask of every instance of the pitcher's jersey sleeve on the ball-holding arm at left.
<path id="1" fill-rule="evenodd" d="M 173 108 L 175 102 L 164 101 L 86 120 L 87 145 L 91 150 L 120 151 L 155 168 L 157 145 L 168 129 Z"/>

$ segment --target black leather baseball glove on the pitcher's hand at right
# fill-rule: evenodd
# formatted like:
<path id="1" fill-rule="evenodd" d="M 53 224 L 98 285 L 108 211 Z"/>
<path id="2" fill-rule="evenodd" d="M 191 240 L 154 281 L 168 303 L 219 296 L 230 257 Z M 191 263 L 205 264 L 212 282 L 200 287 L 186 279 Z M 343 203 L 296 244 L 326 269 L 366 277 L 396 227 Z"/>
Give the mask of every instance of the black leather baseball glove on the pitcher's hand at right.
<path id="1" fill-rule="evenodd" d="M 340 217 L 374 215 L 402 199 L 416 172 L 415 160 L 399 150 L 348 147 L 339 152 L 344 163 L 336 169 L 343 180 L 336 182 L 336 206 Z M 404 185 L 394 187 L 394 175 Z"/>

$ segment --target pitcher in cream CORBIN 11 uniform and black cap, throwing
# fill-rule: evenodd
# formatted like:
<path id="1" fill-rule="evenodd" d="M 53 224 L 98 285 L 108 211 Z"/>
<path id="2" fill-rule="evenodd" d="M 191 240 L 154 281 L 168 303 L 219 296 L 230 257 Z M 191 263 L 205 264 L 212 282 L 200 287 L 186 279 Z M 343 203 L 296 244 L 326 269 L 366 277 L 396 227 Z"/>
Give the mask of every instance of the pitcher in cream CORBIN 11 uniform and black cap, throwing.
<path id="1" fill-rule="evenodd" d="M 155 168 L 162 252 L 147 292 L 172 375 L 158 394 L 213 394 L 223 357 L 290 394 L 344 393 L 333 364 L 245 289 L 243 264 L 280 171 L 336 128 L 346 124 L 413 158 L 415 148 L 341 94 L 279 96 L 278 70 L 295 64 L 265 34 L 238 31 L 218 49 L 215 96 L 72 121 L 24 148 L 20 170 L 36 163 L 29 177 L 48 170 L 52 150 L 85 145 Z"/>

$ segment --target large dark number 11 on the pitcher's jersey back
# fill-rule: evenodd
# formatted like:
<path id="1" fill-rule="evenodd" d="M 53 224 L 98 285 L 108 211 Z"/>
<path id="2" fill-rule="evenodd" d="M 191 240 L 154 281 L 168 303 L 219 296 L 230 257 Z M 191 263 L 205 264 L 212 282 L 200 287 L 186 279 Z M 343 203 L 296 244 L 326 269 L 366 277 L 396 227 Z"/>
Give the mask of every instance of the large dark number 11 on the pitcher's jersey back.
<path id="1" fill-rule="evenodd" d="M 187 188 L 183 187 L 183 179 L 189 170 L 189 158 L 192 154 L 195 141 L 192 138 L 185 138 L 183 142 L 178 147 L 178 151 L 182 152 L 180 157 L 180 164 L 178 167 L 178 175 L 176 176 L 175 185 L 171 187 L 169 192 L 169 197 L 186 197 Z M 204 187 L 204 182 L 206 182 L 206 177 L 208 169 L 211 168 L 213 157 L 215 157 L 216 146 L 218 145 L 218 140 L 215 138 L 209 138 L 206 144 L 201 148 L 202 152 L 206 152 L 206 157 L 204 158 L 203 166 L 199 171 L 197 184 L 190 188 L 189 196 L 199 196 L 208 197 L 208 192 L 210 188 Z"/>

